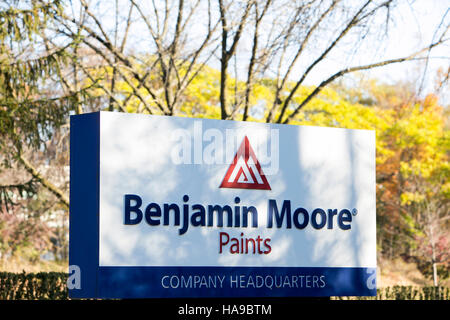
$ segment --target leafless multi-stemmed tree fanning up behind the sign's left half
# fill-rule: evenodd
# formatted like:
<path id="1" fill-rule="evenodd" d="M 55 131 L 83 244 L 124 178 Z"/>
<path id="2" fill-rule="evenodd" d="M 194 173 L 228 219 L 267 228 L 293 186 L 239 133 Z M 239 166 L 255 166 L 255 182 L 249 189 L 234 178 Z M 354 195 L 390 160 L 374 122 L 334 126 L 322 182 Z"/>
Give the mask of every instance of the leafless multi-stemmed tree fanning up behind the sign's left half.
<path id="1" fill-rule="evenodd" d="M 96 59 L 74 50 L 76 63 L 63 75 L 65 82 L 74 85 L 77 77 L 90 78 L 91 69 L 103 68 L 111 74 L 109 85 L 101 85 L 109 110 L 125 111 L 134 96 L 138 112 L 177 113 L 184 91 L 217 49 L 219 19 L 211 6 L 200 0 L 72 2 L 50 34 L 79 39 L 83 52 Z M 131 93 L 118 91 L 119 78 Z"/>

